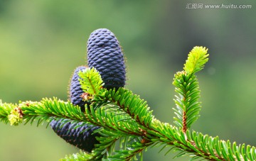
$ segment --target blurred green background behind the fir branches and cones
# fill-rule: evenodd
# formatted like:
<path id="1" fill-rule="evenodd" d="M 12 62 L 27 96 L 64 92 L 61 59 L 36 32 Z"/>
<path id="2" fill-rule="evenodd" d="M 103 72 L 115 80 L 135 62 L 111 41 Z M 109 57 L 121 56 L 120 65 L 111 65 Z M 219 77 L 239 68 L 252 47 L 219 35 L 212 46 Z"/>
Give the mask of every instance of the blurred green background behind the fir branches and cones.
<path id="1" fill-rule="evenodd" d="M 186 9 L 188 4 L 250 4 L 251 9 Z M 68 99 L 70 75 L 85 65 L 87 38 L 97 28 L 117 36 L 127 58 L 127 88 L 172 123 L 174 74 L 196 45 L 210 60 L 198 73 L 201 117 L 191 128 L 256 145 L 256 1 L 0 0 L 0 99 Z M 78 152 L 45 125 L 0 123 L 0 160 L 58 160 Z M 144 160 L 175 154 L 149 148 Z M 181 157 L 174 160 L 188 160 Z"/>

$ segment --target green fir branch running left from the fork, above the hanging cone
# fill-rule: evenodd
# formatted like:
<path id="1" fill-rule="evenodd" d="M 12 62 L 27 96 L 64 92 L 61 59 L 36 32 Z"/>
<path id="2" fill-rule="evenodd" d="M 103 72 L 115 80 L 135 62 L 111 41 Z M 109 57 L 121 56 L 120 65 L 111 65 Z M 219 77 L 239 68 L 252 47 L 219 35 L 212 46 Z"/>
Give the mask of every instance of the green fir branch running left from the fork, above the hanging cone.
<path id="1" fill-rule="evenodd" d="M 118 131 L 122 135 L 142 135 L 139 131 L 140 127 L 133 119 L 127 115 L 117 115 L 116 111 L 110 109 L 111 105 L 103 104 L 102 108 L 98 106 L 90 106 L 90 109 L 85 108 L 83 113 L 79 106 L 73 106 L 69 101 L 61 101 L 57 98 L 43 99 L 41 102 L 23 102 L 19 107 L 23 111 L 23 119 L 28 122 L 38 120 L 51 121 L 53 118 L 68 118 L 73 121 L 90 123 L 95 126 L 102 126 L 110 131 Z M 96 109 L 96 110 L 94 110 Z M 119 121 L 127 118 L 127 121 Z M 129 118 L 129 119 L 128 119 Z M 134 131 L 134 129 L 138 129 Z"/>

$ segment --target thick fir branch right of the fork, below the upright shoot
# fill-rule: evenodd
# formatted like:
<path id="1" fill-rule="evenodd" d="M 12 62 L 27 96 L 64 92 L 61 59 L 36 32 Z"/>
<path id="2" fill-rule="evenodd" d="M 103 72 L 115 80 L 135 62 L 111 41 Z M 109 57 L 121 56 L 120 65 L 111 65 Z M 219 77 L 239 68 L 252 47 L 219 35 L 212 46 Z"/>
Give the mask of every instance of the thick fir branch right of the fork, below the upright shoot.
<path id="1" fill-rule="evenodd" d="M 171 145 L 171 149 L 179 150 L 182 155 L 190 155 L 194 159 L 203 157 L 208 160 L 255 160 L 255 147 L 231 144 L 230 141 L 219 140 L 202 133 L 187 131 L 172 127 L 168 123 L 154 121 L 155 131 L 158 131 L 159 142 Z M 151 134 L 154 134 L 155 131 Z M 149 132 L 149 131 L 148 131 Z M 154 140 L 156 141 L 156 140 Z"/>

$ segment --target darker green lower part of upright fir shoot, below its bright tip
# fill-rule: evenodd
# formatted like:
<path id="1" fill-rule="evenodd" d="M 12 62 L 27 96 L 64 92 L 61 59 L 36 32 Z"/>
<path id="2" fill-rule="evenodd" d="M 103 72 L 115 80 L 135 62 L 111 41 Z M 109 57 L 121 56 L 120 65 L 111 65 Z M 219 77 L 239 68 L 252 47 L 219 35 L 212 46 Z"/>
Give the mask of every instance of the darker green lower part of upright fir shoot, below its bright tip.
<path id="1" fill-rule="evenodd" d="M 198 102 L 200 97 L 198 81 L 196 75 L 182 71 L 175 74 L 173 84 L 176 87 L 175 91 L 178 93 L 178 96 L 176 95 L 176 99 L 174 99 L 176 109 L 173 109 L 177 116 L 174 117 L 174 123 L 183 128 L 183 132 L 186 133 L 186 130 L 200 116 L 201 102 Z"/>

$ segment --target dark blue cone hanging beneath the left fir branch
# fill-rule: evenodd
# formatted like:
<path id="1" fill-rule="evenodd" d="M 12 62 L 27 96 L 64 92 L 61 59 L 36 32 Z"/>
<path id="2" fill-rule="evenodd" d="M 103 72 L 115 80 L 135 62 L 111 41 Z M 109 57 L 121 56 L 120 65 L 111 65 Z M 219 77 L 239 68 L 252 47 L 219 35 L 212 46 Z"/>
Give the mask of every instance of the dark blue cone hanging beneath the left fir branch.
<path id="1" fill-rule="evenodd" d="M 81 123 L 62 123 L 62 121 L 65 121 L 65 119 L 50 122 L 53 131 L 66 142 L 87 152 L 92 152 L 95 144 L 99 143 L 95 137 L 100 136 L 98 133 L 92 133 L 100 127 L 85 125 L 74 129 L 75 126 L 79 126 Z"/>

